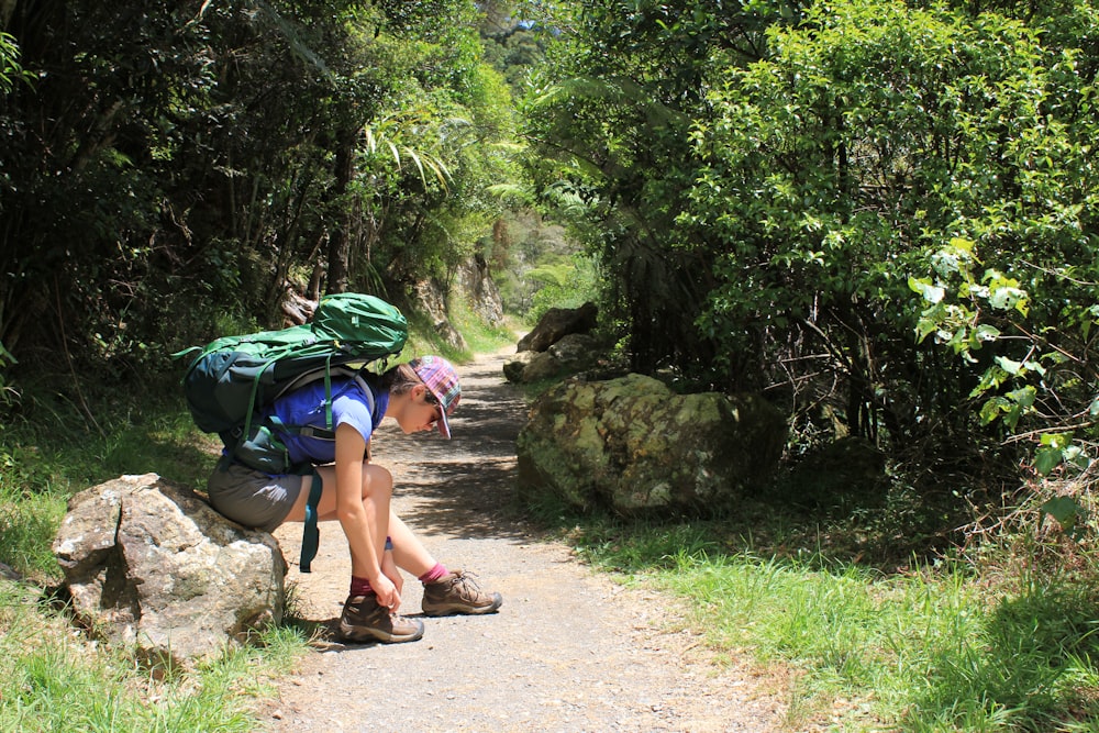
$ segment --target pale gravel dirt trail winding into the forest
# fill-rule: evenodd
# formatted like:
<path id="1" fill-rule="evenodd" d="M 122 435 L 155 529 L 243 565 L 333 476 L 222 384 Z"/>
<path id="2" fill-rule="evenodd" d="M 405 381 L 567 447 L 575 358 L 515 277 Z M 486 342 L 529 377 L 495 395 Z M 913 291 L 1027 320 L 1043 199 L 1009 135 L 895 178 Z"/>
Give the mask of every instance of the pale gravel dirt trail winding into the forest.
<path id="1" fill-rule="evenodd" d="M 375 460 L 396 477 L 398 513 L 443 564 L 502 593 L 500 612 L 425 618 L 423 638 L 409 644 L 319 648 L 264 711 L 270 730 L 780 730 L 773 686 L 746 667 L 708 663 L 698 636 L 673 629 L 665 599 L 592 573 L 508 510 L 525 412 L 503 380 L 506 360 L 459 368 L 452 441 L 409 440 L 387 421 L 374 442 Z M 299 529 L 276 535 L 291 564 Z M 288 579 L 304 615 L 331 629 L 348 576 L 340 527 L 324 524 L 313 573 L 292 566 Z M 420 597 L 407 578 L 402 612 L 418 615 Z"/>

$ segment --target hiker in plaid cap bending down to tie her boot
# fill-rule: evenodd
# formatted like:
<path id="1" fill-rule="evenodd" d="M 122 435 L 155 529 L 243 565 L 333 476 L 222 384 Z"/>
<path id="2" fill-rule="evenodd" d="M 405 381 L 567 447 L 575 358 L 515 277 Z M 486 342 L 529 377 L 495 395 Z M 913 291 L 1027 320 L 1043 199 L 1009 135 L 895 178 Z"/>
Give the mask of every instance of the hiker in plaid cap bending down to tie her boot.
<path id="1" fill-rule="evenodd" d="M 398 568 L 423 582 L 425 615 L 496 612 L 503 602 L 500 593 L 485 592 L 469 574 L 436 562 L 392 511 L 392 475 L 370 463 L 367 451 L 385 418 L 396 420 L 406 434 L 437 429 L 449 438 L 447 418 L 460 397 L 454 366 L 440 356 L 423 356 L 381 375 L 333 376 L 328 387 L 323 380 L 307 384 L 277 399 L 263 417 L 291 464 L 313 466 L 312 475 L 271 476 L 226 451 L 208 482 L 210 503 L 229 519 L 267 532 L 306 521 L 308 511 L 315 511 L 319 521 L 338 521 L 352 560 L 351 590 L 340 617 L 340 635 L 347 641 L 411 642 L 423 635 L 423 622 L 397 612 L 402 588 Z M 296 427 L 280 430 L 285 425 Z M 308 430 L 326 425 L 335 427 L 334 441 Z M 320 496 L 310 509 L 315 481 Z"/>

